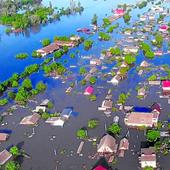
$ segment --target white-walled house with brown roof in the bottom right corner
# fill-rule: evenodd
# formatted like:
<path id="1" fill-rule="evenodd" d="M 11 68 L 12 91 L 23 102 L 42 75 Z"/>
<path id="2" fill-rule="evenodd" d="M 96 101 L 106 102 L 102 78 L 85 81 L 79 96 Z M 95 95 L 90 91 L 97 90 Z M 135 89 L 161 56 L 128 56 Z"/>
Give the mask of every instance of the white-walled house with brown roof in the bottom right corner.
<path id="1" fill-rule="evenodd" d="M 142 148 L 141 156 L 139 157 L 141 168 L 152 167 L 156 168 L 156 152 L 154 147 Z"/>

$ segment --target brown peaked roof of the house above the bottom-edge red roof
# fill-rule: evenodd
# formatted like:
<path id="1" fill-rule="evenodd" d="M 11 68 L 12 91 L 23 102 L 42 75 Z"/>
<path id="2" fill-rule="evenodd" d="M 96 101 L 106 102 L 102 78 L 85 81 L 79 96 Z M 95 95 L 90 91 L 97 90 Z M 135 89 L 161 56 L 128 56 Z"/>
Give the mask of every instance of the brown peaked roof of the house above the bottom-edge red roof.
<path id="1" fill-rule="evenodd" d="M 111 135 L 107 134 L 101 138 L 97 150 L 98 152 L 100 152 L 100 149 L 102 149 L 102 151 L 105 151 L 106 148 L 109 148 L 112 152 L 114 152 L 115 146 L 116 146 L 116 139 L 113 138 Z"/>

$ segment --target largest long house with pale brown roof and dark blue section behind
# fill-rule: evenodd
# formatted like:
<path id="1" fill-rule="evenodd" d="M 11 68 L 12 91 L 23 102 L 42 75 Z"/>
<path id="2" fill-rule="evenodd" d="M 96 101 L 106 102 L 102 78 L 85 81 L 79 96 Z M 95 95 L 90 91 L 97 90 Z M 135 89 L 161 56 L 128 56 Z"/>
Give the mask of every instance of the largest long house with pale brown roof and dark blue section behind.
<path id="1" fill-rule="evenodd" d="M 160 106 L 157 103 L 154 103 L 150 108 L 133 107 L 133 109 L 126 114 L 124 122 L 129 127 L 157 126 L 160 112 Z"/>

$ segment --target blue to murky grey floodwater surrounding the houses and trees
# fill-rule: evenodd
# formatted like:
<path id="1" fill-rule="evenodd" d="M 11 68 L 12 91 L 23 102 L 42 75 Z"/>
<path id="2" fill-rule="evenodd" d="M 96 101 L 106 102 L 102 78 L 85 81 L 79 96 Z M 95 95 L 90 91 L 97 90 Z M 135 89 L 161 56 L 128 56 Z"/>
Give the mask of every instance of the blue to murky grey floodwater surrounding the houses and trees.
<path id="1" fill-rule="evenodd" d="M 99 23 L 106 15 L 111 14 L 111 10 L 116 8 L 119 3 L 135 3 L 135 0 L 80 0 L 85 10 L 81 15 L 74 15 L 69 17 L 62 17 L 61 21 L 49 23 L 45 26 L 34 28 L 29 30 L 25 34 L 19 35 L 6 35 L 4 26 L 0 26 L 0 81 L 4 81 L 9 78 L 14 72 L 22 72 L 25 66 L 32 63 L 41 63 L 43 59 L 33 59 L 31 56 L 25 60 L 16 60 L 15 55 L 20 52 L 27 52 L 31 55 L 32 51 L 41 47 L 40 40 L 43 38 L 50 38 L 51 40 L 55 35 L 71 35 L 76 33 L 76 29 L 79 27 L 89 27 L 93 14 L 96 13 L 99 17 Z M 48 5 L 49 1 L 44 0 L 44 4 Z M 68 0 L 54 0 L 53 5 L 62 7 L 69 5 Z M 138 10 L 133 12 L 133 20 L 136 19 Z M 122 19 L 119 21 L 124 26 Z M 95 55 L 98 57 L 102 49 L 107 49 L 115 44 L 115 40 L 119 39 L 117 33 L 113 33 L 113 39 L 109 42 L 97 41 L 97 35 L 93 35 L 90 39 L 95 40 L 94 46 L 89 51 L 85 51 L 83 46 L 70 50 L 61 61 L 69 58 L 69 54 L 80 51 L 80 55 Z M 49 55 L 50 57 L 50 55 Z M 141 63 L 144 56 L 139 55 L 137 59 L 137 65 Z M 161 62 L 160 62 L 161 61 Z M 164 55 L 161 59 L 156 58 L 152 61 L 155 65 L 170 64 L 168 55 Z M 68 59 L 66 66 L 78 65 L 78 68 L 73 68 L 73 77 L 77 75 L 81 63 L 86 61 L 82 60 L 79 56 L 75 59 Z M 148 106 L 153 102 L 161 103 L 163 108 L 160 115 L 160 120 L 167 120 L 167 114 L 169 113 L 170 106 L 167 100 L 160 99 L 157 91 L 160 91 L 160 87 L 152 87 L 149 91 L 149 95 L 145 100 L 136 100 L 135 87 L 141 81 L 141 78 L 136 75 L 134 69 L 130 72 L 128 79 L 120 83 L 118 87 L 113 89 L 113 101 L 116 102 L 117 96 L 121 92 L 128 92 L 132 90 L 132 95 L 128 99 L 127 104 L 137 106 Z M 76 78 L 75 78 L 76 79 Z M 75 81 L 75 79 L 73 79 Z M 44 121 L 39 122 L 39 126 L 35 127 L 35 135 L 32 138 L 27 138 L 25 133 L 31 134 L 32 127 L 23 127 L 19 125 L 19 121 L 22 117 L 29 115 L 31 112 L 28 109 L 20 108 L 13 113 L 12 116 L 7 117 L 4 122 L 3 128 L 12 129 L 13 133 L 9 140 L 0 146 L 0 150 L 10 146 L 11 144 L 20 144 L 20 146 L 31 155 L 31 159 L 24 158 L 22 162 L 23 170 L 55 170 L 58 166 L 58 170 L 83 170 L 83 165 L 90 170 L 95 164 L 96 160 L 88 158 L 90 155 L 96 153 L 96 146 L 93 146 L 90 142 L 85 142 L 82 150 L 83 156 L 79 157 L 76 154 L 80 140 L 76 138 L 76 131 L 87 126 L 87 121 L 92 118 L 97 118 L 100 121 L 100 126 L 94 130 L 89 130 L 90 137 L 101 137 L 105 133 L 105 124 L 108 126 L 113 117 L 117 114 L 120 116 L 120 125 L 122 126 L 122 133 L 120 139 L 124 137 L 128 131 L 125 127 L 123 118 L 124 114 L 121 112 L 114 113 L 111 118 L 106 116 L 97 110 L 101 105 L 109 88 L 112 88 L 111 84 L 107 84 L 104 80 L 99 80 L 95 85 L 95 93 L 97 94 L 97 101 L 90 102 L 86 97 L 78 92 L 83 92 L 83 88 L 77 88 L 71 95 L 66 95 L 65 90 L 69 86 L 70 82 L 62 84 L 60 80 L 54 80 L 52 78 L 46 78 L 42 75 L 42 72 L 33 74 L 31 76 L 33 84 L 36 84 L 39 80 L 43 80 L 48 84 L 48 89 L 44 94 L 40 94 L 36 97 L 36 100 L 40 103 L 42 99 L 49 98 L 54 103 L 53 111 L 62 111 L 64 107 L 73 107 L 75 112 L 78 112 L 77 117 L 71 117 L 71 119 L 65 124 L 64 128 L 52 127 L 45 124 Z M 103 88 L 99 88 L 103 87 Z M 31 109 L 35 108 L 35 103 L 29 104 Z M 3 109 L 2 109 L 3 111 Z M 140 142 L 145 141 L 145 137 L 142 131 L 130 130 L 130 150 L 125 153 L 124 158 L 117 160 L 114 168 L 118 170 L 137 170 L 139 169 L 138 152 L 140 151 Z M 131 152 L 131 150 L 134 151 Z M 55 155 L 56 151 L 56 155 Z M 64 152 L 63 152 L 64 151 Z M 170 157 L 159 158 L 159 164 L 164 170 L 169 170 L 168 159 Z"/>

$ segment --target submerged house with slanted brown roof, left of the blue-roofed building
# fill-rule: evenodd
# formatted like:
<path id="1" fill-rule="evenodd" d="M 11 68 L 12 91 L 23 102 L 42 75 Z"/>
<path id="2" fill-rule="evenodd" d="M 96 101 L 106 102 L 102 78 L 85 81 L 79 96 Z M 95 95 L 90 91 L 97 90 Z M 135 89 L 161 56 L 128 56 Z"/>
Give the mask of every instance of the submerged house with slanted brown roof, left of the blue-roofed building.
<path id="1" fill-rule="evenodd" d="M 20 124 L 21 125 L 36 125 L 40 118 L 41 116 L 38 113 L 34 113 L 32 115 L 24 117 L 21 120 Z"/>

